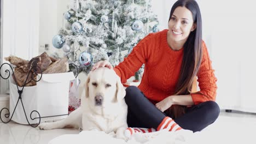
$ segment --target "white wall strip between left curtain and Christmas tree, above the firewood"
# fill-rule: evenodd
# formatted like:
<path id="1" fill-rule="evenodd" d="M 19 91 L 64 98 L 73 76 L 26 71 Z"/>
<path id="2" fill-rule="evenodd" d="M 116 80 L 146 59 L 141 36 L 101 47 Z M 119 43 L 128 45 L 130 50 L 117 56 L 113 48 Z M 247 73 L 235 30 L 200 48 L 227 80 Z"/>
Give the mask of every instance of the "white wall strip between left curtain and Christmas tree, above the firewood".
<path id="1" fill-rule="evenodd" d="M 60 28 L 65 27 L 66 20 L 63 14 L 67 11 L 69 2 L 70 0 L 40 1 L 39 53 L 45 51 L 45 44 L 49 44 L 49 50 L 46 52 L 63 53 L 62 49 L 56 49 L 51 41 Z"/>

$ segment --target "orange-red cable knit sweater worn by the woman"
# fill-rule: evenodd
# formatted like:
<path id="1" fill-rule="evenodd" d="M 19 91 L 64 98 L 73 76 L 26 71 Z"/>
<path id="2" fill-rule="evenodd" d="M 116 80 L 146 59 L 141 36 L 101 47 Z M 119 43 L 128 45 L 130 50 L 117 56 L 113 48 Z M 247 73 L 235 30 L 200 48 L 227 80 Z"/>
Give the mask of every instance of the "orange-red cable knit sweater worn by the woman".
<path id="1" fill-rule="evenodd" d="M 183 49 L 174 51 L 168 46 L 167 31 L 165 29 L 147 35 L 133 48 L 130 55 L 114 68 L 121 82 L 125 83 L 144 63 L 144 73 L 138 88 L 153 103 L 174 94 L 182 65 Z M 202 63 L 197 73 L 200 93 L 191 93 L 195 105 L 216 98 L 217 79 L 204 42 L 202 49 Z"/>

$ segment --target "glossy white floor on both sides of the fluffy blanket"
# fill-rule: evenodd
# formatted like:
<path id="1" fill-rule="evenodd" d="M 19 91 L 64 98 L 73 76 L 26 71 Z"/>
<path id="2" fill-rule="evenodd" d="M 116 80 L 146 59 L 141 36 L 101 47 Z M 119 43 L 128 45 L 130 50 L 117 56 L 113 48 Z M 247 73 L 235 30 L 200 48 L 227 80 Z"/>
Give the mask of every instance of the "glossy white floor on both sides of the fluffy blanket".
<path id="1" fill-rule="evenodd" d="M 256 143 L 256 114 L 232 111 L 220 113 L 215 123 L 201 131 L 199 141 L 205 143 Z M 78 134 L 76 129 L 38 130 L 14 122 L 0 123 L 0 143 L 48 143 L 63 134 Z M 209 138 L 210 137 L 210 138 Z M 201 142 L 200 142 L 201 143 Z"/>

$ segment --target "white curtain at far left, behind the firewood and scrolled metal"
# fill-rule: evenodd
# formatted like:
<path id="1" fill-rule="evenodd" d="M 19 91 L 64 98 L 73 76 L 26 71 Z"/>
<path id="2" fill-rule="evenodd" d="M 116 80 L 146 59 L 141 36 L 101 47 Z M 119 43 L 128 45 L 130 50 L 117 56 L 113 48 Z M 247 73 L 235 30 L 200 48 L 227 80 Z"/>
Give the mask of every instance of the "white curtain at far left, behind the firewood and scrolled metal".
<path id="1" fill-rule="evenodd" d="M 31 59 L 38 55 L 39 0 L 3 1 L 3 39 L 1 64 L 10 55 Z M 4 74 L 4 67 L 1 74 Z M 1 78 L 1 92 L 8 89 L 8 82 Z"/>

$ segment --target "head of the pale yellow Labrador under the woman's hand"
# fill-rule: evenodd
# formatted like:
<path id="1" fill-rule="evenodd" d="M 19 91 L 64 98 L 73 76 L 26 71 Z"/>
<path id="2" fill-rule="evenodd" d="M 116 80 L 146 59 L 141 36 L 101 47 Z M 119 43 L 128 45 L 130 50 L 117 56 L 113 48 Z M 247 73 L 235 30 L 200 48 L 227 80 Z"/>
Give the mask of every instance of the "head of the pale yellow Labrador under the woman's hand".
<path id="1" fill-rule="evenodd" d="M 108 106 L 109 103 L 121 103 L 125 89 L 120 77 L 109 68 L 97 68 L 91 71 L 85 82 L 85 98 L 94 106 Z"/>

